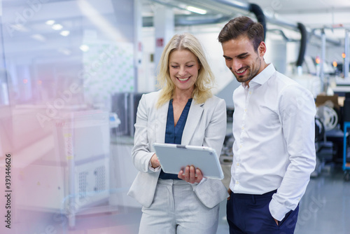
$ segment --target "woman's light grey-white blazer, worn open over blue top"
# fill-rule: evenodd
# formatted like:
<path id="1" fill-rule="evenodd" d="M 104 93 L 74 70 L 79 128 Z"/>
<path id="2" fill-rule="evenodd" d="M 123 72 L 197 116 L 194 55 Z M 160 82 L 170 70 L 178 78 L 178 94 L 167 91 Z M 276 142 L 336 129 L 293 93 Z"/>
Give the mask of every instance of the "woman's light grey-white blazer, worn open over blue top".
<path id="1" fill-rule="evenodd" d="M 160 170 L 154 172 L 148 167 L 155 153 L 153 143 L 165 142 L 165 128 L 169 102 L 156 108 L 160 91 L 142 95 L 137 109 L 132 162 L 139 173 L 132 183 L 128 195 L 144 207 L 150 207 L 158 183 Z M 211 97 L 202 104 L 191 103 L 183 130 L 183 145 L 209 146 L 221 154 L 226 134 L 225 100 Z M 204 179 L 200 184 L 192 184 L 193 191 L 200 201 L 209 208 L 215 207 L 225 198 L 228 191 L 220 180 Z"/>

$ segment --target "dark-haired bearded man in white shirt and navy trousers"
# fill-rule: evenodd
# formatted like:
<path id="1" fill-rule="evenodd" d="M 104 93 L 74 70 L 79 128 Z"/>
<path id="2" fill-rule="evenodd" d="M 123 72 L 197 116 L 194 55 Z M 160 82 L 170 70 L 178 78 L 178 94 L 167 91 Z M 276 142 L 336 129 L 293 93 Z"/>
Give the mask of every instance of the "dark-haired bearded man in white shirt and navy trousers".
<path id="1" fill-rule="evenodd" d="M 233 92 L 230 234 L 293 233 L 315 167 L 314 98 L 265 62 L 263 31 L 241 16 L 218 36 L 226 65 L 241 83 Z"/>

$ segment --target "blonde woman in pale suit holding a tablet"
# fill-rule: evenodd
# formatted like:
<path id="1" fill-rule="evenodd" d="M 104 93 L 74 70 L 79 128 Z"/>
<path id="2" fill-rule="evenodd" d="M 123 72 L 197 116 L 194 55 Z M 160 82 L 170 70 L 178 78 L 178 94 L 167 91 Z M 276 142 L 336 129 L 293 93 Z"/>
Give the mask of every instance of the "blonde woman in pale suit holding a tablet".
<path id="1" fill-rule="evenodd" d="M 160 58 L 160 90 L 141 97 L 132 160 L 139 170 L 129 195 L 141 203 L 139 233 L 216 233 L 219 203 L 228 192 L 194 166 L 162 171 L 153 143 L 210 146 L 221 153 L 226 105 L 211 93 L 214 75 L 200 42 L 176 34 Z M 195 174 L 197 176 L 195 177 Z"/>

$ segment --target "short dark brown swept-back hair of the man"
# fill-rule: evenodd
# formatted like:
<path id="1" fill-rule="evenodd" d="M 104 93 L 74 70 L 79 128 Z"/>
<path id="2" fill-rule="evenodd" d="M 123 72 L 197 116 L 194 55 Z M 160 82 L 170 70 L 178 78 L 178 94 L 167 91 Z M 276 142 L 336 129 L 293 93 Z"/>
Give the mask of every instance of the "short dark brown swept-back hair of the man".
<path id="1" fill-rule="evenodd" d="M 254 22 L 246 16 L 239 16 L 230 20 L 221 29 L 218 36 L 218 41 L 224 43 L 232 39 L 237 39 L 239 36 L 248 36 L 249 41 L 253 43 L 253 48 L 258 51 L 261 41 L 264 41 L 264 28 L 259 22 Z"/>

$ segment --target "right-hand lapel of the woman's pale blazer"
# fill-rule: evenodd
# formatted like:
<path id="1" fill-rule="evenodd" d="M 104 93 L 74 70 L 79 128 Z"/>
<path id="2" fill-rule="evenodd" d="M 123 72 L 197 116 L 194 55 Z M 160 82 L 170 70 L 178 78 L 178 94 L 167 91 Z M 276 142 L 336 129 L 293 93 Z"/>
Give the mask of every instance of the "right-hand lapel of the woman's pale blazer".
<path id="1" fill-rule="evenodd" d="M 186 120 L 185 129 L 183 130 L 182 134 L 181 144 L 190 144 L 190 140 L 192 139 L 193 134 L 195 134 L 195 129 L 197 128 L 198 123 L 200 123 L 200 118 L 202 117 L 203 113 L 203 105 L 204 103 L 195 104 L 194 100 L 191 103 L 190 111 L 188 112 Z"/>

